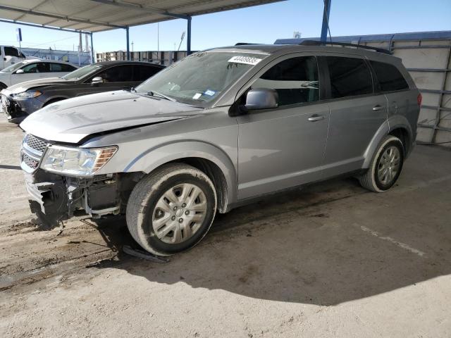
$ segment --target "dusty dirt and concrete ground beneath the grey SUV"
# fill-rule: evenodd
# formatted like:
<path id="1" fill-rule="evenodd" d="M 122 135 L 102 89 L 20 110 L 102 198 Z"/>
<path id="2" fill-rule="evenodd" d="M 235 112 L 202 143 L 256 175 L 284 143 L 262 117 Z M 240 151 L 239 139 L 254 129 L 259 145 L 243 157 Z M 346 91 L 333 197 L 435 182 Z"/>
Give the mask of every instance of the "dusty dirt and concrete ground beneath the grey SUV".
<path id="1" fill-rule="evenodd" d="M 451 337 L 451 151 L 397 187 L 332 180 L 218 215 L 168 263 L 123 220 L 39 231 L 0 122 L 0 337 Z"/>

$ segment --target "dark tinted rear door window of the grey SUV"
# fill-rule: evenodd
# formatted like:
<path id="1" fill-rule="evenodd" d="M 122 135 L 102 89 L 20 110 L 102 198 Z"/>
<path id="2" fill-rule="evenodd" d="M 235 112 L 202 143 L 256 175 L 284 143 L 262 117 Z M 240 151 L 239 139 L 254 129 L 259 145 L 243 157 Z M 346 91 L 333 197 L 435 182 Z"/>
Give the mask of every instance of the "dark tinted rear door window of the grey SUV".
<path id="1" fill-rule="evenodd" d="M 360 58 L 326 57 L 333 99 L 373 93 L 373 79 L 366 62 Z"/>

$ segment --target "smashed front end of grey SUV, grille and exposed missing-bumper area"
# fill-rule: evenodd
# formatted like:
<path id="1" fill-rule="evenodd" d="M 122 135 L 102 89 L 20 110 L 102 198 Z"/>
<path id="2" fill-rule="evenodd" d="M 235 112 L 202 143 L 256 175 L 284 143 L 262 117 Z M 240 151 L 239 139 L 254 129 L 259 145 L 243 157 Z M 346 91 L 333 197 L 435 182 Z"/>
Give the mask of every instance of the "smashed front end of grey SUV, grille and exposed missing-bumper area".
<path id="1" fill-rule="evenodd" d="M 25 134 L 20 151 L 20 166 L 25 172 L 30 209 L 45 227 L 56 227 L 61 221 L 78 215 L 101 218 L 104 215 L 125 213 L 128 196 L 139 180 L 136 174 L 82 177 L 52 173 L 42 166 L 44 158 L 51 156 L 48 152 L 53 148 L 58 146 L 32 134 Z M 51 160 L 56 161 L 58 157 Z M 101 155 L 98 161 L 103 165 L 108 159 Z"/>

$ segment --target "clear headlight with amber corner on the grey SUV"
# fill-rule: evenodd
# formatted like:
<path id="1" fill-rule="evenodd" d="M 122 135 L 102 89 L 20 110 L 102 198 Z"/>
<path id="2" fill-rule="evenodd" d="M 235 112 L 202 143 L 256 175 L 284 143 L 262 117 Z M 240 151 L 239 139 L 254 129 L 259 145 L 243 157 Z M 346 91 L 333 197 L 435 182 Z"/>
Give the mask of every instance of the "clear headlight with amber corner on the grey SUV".
<path id="1" fill-rule="evenodd" d="M 50 146 L 45 152 L 41 168 L 68 175 L 94 175 L 117 150 L 116 146 L 97 149 Z"/>

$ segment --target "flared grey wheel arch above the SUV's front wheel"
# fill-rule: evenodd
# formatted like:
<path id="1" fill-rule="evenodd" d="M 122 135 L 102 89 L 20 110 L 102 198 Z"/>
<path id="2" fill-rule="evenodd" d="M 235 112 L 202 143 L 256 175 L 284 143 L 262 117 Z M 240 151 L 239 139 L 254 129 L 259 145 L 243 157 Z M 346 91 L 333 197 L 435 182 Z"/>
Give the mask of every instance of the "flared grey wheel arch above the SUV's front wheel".
<path id="1" fill-rule="evenodd" d="M 185 140 L 159 144 L 133 158 L 125 168 L 124 173 L 143 172 L 151 173 L 164 163 L 183 158 L 204 158 L 215 163 L 221 169 L 227 183 L 228 202 L 236 201 L 237 173 L 235 165 L 223 149 L 199 140 Z"/>

